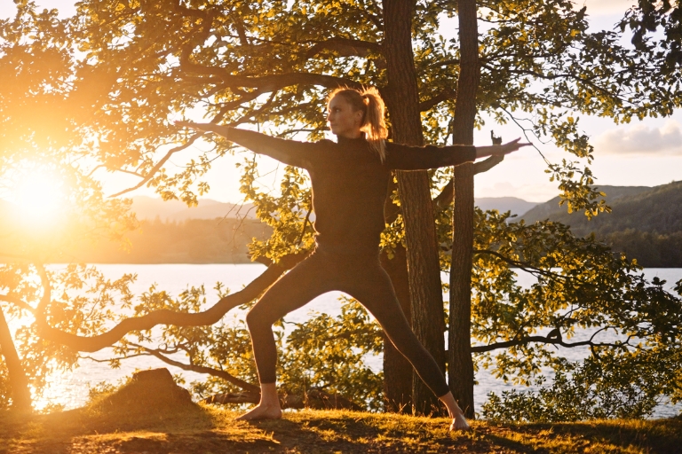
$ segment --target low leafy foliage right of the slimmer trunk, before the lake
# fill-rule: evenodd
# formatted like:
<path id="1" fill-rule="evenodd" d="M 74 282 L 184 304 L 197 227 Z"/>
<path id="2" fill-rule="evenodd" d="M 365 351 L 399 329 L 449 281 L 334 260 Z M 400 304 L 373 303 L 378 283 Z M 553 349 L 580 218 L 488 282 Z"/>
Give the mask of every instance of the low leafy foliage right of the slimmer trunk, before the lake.
<path id="1" fill-rule="evenodd" d="M 535 387 L 554 374 L 551 386 L 537 393 L 491 395 L 484 417 L 642 418 L 662 395 L 678 401 L 672 364 L 682 351 L 682 298 L 665 291 L 664 281 L 649 283 L 635 262 L 562 224 L 479 216 L 472 304 L 478 366 Z M 512 267 L 533 274 L 535 284 L 518 286 Z M 578 333 L 587 339 L 571 340 Z M 556 345 L 590 348 L 591 355 L 568 363 L 549 348 Z"/>

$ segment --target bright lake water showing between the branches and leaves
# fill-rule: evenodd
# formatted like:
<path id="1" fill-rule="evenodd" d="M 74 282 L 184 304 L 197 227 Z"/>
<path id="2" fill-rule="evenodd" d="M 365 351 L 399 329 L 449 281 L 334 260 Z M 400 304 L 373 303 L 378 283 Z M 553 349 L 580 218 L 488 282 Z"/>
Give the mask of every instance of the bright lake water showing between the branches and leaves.
<path id="1" fill-rule="evenodd" d="M 59 265 L 54 265 L 52 268 L 58 269 Z M 125 273 L 137 274 L 138 279 L 131 286 L 134 294 L 142 294 L 149 289 L 149 286 L 157 284 L 157 288 L 164 289 L 172 295 L 178 295 L 188 286 L 204 284 L 207 289 L 210 289 L 218 281 L 225 284 L 232 292 L 236 292 L 253 278 L 258 277 L 265 270 L 265 266 L 260 264 L 107 264 L 99 265 L 98 269 L 102 270 L 107 278 L 120 278 Z M 679 278 L 682 278 L 682 269 L 647 269 L 646 277 L 649 279 L 654 277 L 665 279 L 668 281 L 667 286 L 671 287 Z M 533 282 L 532 276 L 523 272 L 519 273 L 520 285 L 530 286 Z M 212 295 L 210 290 L 207 290 L 207 294 Z M 304 308 L 291 312 L 287 316 L 287 320 L 302 322 L 310 317 L 310 314 L 313 312 L 326 312 L 331 316 L 336 316 L 340 314 L 341 302 L 338 301 L 339 295 L 340 293 L 321 295 Z M 216 299 L 213 298 L 209 301 L 215 302 Z M 227 317 L 231 315 L 232 312 Z M 233 317 L 243 317 L 243 314 L 236 313 Z M 573 340 L 581 340 L 580 334 Z M 570 360 L 579 360 L 588 356 L 589 350 L 588 348 L 559 347 L 557 354 L 565 356 Z M 110 356 L 110 351 L 106 348 L 91 356 L 96 359 L 107 359 Z M 381 368 L 382 359 L 380 356 L 369 357 L 368 364 L 373 369 L 378 370 Z M 44 398 L 36 402 L 36 406 L 41 408 L 48 403 L 62 404 L 67 409 L 81 406 L 87 400 L 88 387 L 94 386 L 101 381 L 115 383 L 137 369 L 148 369 L 150 367 L 168 367 L 173 374 L 181 373 L 187 383 L 193 380 L 205 379 L 203 374 L 181 371 L 178 368 L 164 364 L 154 357 L 145 356 L 126 359 L 122 362 L 119 369 L 111 369 L 107 363 L 98 363 L 84 359 L 74 371 L 63 372 L 50 377 L 49 388 Z M 476 380 L 479 382 L 478 386 L 474 388 L 476 411 L 480 411 L 480 405 L 486 402 L 490 391 L 495 391 L 499 395 L 504 389 L 511 389 L 513 387 L 509 383 L 497 380 L 484 370 L 477 373 Z M 671 417 L 678 414 L 680 410 L 682 410 L 680 405 L 661 404 L 654 412 L 654 418 Z"/>

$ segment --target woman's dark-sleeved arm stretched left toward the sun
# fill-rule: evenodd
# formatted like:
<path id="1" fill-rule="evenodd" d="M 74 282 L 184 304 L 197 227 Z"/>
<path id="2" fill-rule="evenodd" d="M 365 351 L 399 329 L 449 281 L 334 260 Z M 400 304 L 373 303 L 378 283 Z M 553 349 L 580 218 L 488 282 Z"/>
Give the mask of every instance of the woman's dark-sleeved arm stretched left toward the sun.
<path id="1" fill-rule="evenodd" d="M 178 126 L 213 132 L 225 137 L 230 142 L 242 145 L 254 153 L 265 154 L 279 160 L 289 166 L 309 168 L 313 157 L 314 146 L 312 142 L 298 142 L 279 137 L 271 137 L 256 131 L 236 129 L 213 123 L 195 123 L 194 121 L 175 121 Z"/>

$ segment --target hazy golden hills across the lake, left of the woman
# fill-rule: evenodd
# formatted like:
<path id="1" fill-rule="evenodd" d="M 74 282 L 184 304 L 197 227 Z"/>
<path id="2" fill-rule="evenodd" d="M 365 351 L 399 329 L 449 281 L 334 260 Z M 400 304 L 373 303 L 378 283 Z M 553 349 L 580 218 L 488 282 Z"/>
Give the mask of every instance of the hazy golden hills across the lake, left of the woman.
<path id="1" fill-rule="evenodd" d="M 272 229 L 255 219 L 251 205 L 200 200 L 189 208 L 178 200 L 133 198 L 139 229 L 117 241 L 84 240 L 68 247 L 44 251 L 46 262 L 85 263 L 242 263 L 250 262 L 247 245 L 267 239 Z M 20 208 L 0 200 L 0 252 L 22 254 Z"/>

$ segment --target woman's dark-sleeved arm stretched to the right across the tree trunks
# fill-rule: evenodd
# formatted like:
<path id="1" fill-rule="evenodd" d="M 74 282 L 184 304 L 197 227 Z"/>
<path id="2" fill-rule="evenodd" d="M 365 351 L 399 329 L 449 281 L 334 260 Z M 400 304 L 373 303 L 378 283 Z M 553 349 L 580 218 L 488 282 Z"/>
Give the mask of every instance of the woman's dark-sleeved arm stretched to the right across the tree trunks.
<path id="1" fill-rule="evenodd" d="M 490 146 L 409 146 L 387 143 L 386 165 L 396 170 L 424 170 L 427 168 L 457 166 L 479 158 L 513 153 L 522 146 L 530 145 L 519 143 L 519 140 L 517 138 L 503 145 Z"/>

